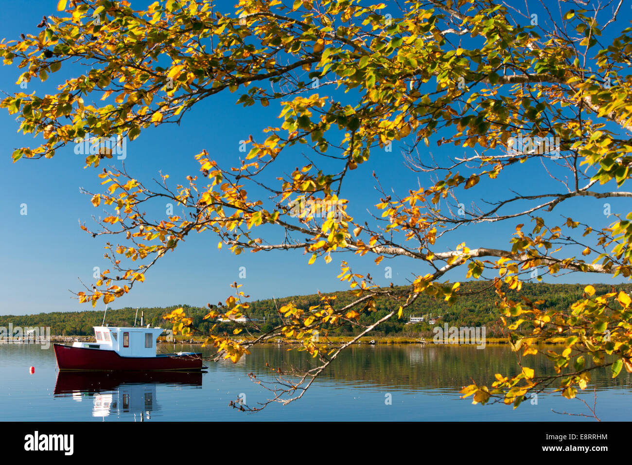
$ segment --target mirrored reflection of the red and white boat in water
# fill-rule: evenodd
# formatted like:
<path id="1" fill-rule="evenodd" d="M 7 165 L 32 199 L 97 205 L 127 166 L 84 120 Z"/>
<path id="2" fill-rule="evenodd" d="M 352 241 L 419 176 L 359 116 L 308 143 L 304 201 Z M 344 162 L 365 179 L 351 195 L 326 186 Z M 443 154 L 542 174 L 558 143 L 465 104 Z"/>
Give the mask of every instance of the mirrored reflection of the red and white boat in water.
<path id="1" fill-rule="evenodd" d="M 202 372 L 60 371 L 54 395 L 72 397 L 77 402 L 92 398 L 95 418 L 133 415 L 134 421 L 145 421 L 161 409 L 156 398 L 157 385 L 202 388 Z"/>

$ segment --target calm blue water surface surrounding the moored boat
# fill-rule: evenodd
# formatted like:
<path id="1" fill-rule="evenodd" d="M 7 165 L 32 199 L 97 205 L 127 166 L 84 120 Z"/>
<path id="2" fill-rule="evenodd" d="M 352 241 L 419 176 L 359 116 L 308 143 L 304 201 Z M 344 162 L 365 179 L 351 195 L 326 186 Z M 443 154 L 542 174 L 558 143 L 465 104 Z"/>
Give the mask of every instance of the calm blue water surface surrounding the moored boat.
<path id="1" fill-rule="evenodd" d="M 173 345 L 159 350 L 172 352 Z M 199 351 L 199 346 L 176 346 Z M 207 354 L 210 353 L 207 349 Z M 515 371 L 514 354 L 506 347 L 396 347 L 356 346 L 341 354 L 302 399 L 262 412 L 246 414 L 228 407 L 245 394 L 246 403 L 269 399 L 269 392 L 253 383 L 248 373 L 266 379 L 270 366 L 308 366 L 301 352 L 270 345 L 252 349 L 239 363 L 207 362 L 202 375 L 151 375 L 112 378 L 96 375 L 59 375 L 54 353 L 37 345 L 0 345 L 0 412 L 3 420 L 30 421 L 257 421 L 257 420 L 428 420 L 428 421 L 594 421 L 551 411 L 586 413 L 580 400 L 559 394 L 540 395 L 537 405 L 524 402 L 515 411 L 504 405 L 472 405 L 459 399 L 461 386 L 485 381 L 495 373 Z M 35 367 L 30 375 L 28 369 Z M 552 373 L 538 358 L 530 366 Z M 629 420 L 632 379 L 622 371 L 612 380 L 609 369 L 593 372 L 597 385 L 597 415 L 602 420 Z M 269 378 L 268 378 L 269 379 Z M 593 391 L 581 394 L 592 406 Z M 587 391 L 587 390 L 586 390 Z M 392 404 L 385 400 L 391 395 Z"/>

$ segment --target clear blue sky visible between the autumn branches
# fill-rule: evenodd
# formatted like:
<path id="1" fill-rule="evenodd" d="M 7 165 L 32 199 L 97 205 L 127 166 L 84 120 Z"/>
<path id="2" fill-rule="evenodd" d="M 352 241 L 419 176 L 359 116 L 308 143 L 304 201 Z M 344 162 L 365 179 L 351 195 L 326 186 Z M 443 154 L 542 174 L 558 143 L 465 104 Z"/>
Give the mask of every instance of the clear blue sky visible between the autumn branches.
<path id="1" fill-rule="evenodd" d="M 4 3 L 0 9 L 1 35 L 11 40 L 17 39 L 21 32 L 37 31 L 35 25 L 42 15 L 56 14 L 56 3 L 56 0 Z M 132 2 L 132 5 L 140 8 L 137 2 Z M 629 18 L 629 11 L 624 11 L 618 24 L 611 25 L 610 32 L 623 29 L 625 26 L 621 24 L 629 22 Z M 33 79 L 28 84 L 28 92 L 51 92 L 52 85 L 61 78 L 63 70 L 58 74 L 52 75 L 44 84 Z M 15 82 L 18 75 L 16 66 L 0 66 L 0 90 L 9 94 L 17 92 L 19 88 Z M 255 140 L 262 140 L 262 128 L 275 125 L 280 111 L 277 102 L 271 102 L 267 108 L 236 106 L 234 102 L 239 95 L 226 93 L 208 99 L 194 108 L 180 127 L 164 125 L 145 130 L 137 140 L 128 142 L 126 168 L 144 182 L 157 177 L 162 170 L 175 184 L 184 180 L 186 175 L 198 174 L 199 165 L 193 156 L 202 149 L 209 151 L 211 158 L 217 159 L 223 166 L 230 166 L 229 163 L 243 156 L 238 151 L 239 141 L 247 139 L 249 134 Z M 39 140 L 17 134 L 17 128 L 14 116 L 8 115 L 4 109 L 0 111 L 0 189 L 3 193 L 0 196 L 0 314 L 91 309 L 72 299 L 69 289 L 75 292 L 82 290 L 78 278 L 92 283 L 94 267 L 98 266 L 101 270 L 108 267 L 103 258 L 105 240 L 99 237 L 93 239 L 78 226 L 78 220 L 89 224 L 93 214 L 103 216 L 101 209 L 92 206 L 90 197 L 79 192 L 80 187 L 94 192 L 102 190 L 97 178 L 100 168 L 83 169 L 85 157 L 76 155 L 73 147 L 64 147 L 52 159 L 22 159 L 11 163 L 11 152 L 15 147 L 39 144 Z M 342 197 L 359 202 L 358 217 L 365 215 L 366 208 L 379 202 L 380 195 L 374 190 L 370 177 L 374 170 L 382 185 L 395 187 L 401 195 L 406 195 L 409 188 L 416 189 L 418 180 L 424 186 L 429 185 L 427 175 L 422 177 L 405 170 L 396 145 L 390 153 L 372 154 L 367 163 L 350 172 L 346 180 L 347 190 Z M 307 147 L 293 149 L 288 166 L 293 168 L 302 166 L 303 162 L 307 164 L 301 149 Z M 463 153 L 463 149 L 454 146 L 436 147 L 434 144 L 428 151 L 435 156 Z M 309 155 L 309 152 L 305 154 Z M 112 159 L 111 163 L 121 166 L 116 159 Z M 508 185 L 524 193 L 538 190 L 548 182 L 531 176 L 528 170 L 502 176 L 504 182 L 488 183 L 489 188 L 477 190 L 470 201 L 478 201 L 481 195 L 489 195 L 490 199 L 503 195 L 503 189 L 506 190 Z M 609 202 L 613 213 L 629 211 L 629 208 L 625 209 L 626 201 Z M 27 204 L 28 214 L 25 216 L 20 214 L 21 204 Z M 580 199 L 564 204 L 556 213 L 569 214 L 576 220 L 590 221 L 593 225 L 607 226 L 614 218 L 605 218 L 603 204 L 604 201 L 598 199 Z M 460 240 L 452 236 L 442 246 L 445 245 L 446 250 L 453 249 L 459 242 L 465 241 L 470 247 L 507 247 L 514 225 L 519 222 L 522 221 L 461 230 Z M 525 229 L 530 230 L 528 220 L 524 222 L 527 223 Z M 167 254 L 152 268 L 145 283 L 135 286 L 131 294 L 115 301 L 114 307 L 185 303 L 203 306 L 207 302 L 223 301 L 231 294 L 229 285 L 235 280 L 244 285 L 243 290 L 252 299 L 340 290 L 345 288 L 336 278 L 341 259 L 349 261 L 358 273 L 370 272 L 378 283 L 384 285 L 391 281 L 396 285 L 405 284 L 413 273 L 428 272 L 427 266 L 410 259 L 384 260 L 376 266 L 373 261 L 375 256 L 370 254 L 365 257 L 334 254 L 330 264 L 319 259 L 312 266 L 307 266 L 308 258 L 302 251 L 246 252 L 234 256 L 227 247 L 221 251 L 217 249 L 217 237 L 212 233 L 190 236 L 185 244 L 178 246 L 177 252 Z M 239 278 L 241 266 L 246 267 L 246 279 Z M 385 266 L 392 267 L 391 279 L 384 278 Z M 447 277 L 463 280 L 465 269 L 454 271 Z M 621 282 L 609 276 L 577 274 L 546 280 Z"/>

